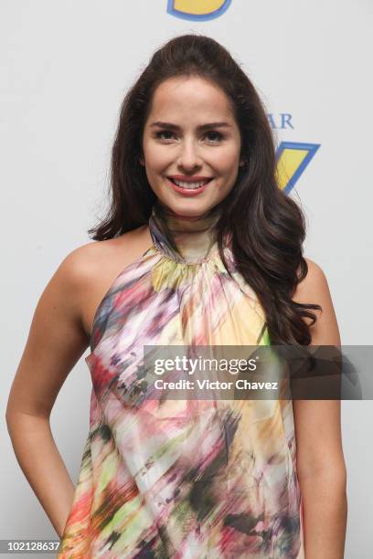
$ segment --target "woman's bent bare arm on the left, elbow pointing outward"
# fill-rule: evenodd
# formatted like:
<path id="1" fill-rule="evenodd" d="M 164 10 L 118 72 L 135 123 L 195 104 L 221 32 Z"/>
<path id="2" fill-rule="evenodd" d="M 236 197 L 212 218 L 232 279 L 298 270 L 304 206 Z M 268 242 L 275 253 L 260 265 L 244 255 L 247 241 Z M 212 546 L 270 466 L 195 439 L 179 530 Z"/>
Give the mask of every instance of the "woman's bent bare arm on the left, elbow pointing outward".
<path id="1" fill-rule="evenodd" d="M 61 386 L 89 344 L 80 309 L 89 275 L 83 253 L 84 248 L 77 248 L 63 260 L 37 303 L 6 408 L 16 459 L 59 537 L 75 488 L 49 417 Z"/>

